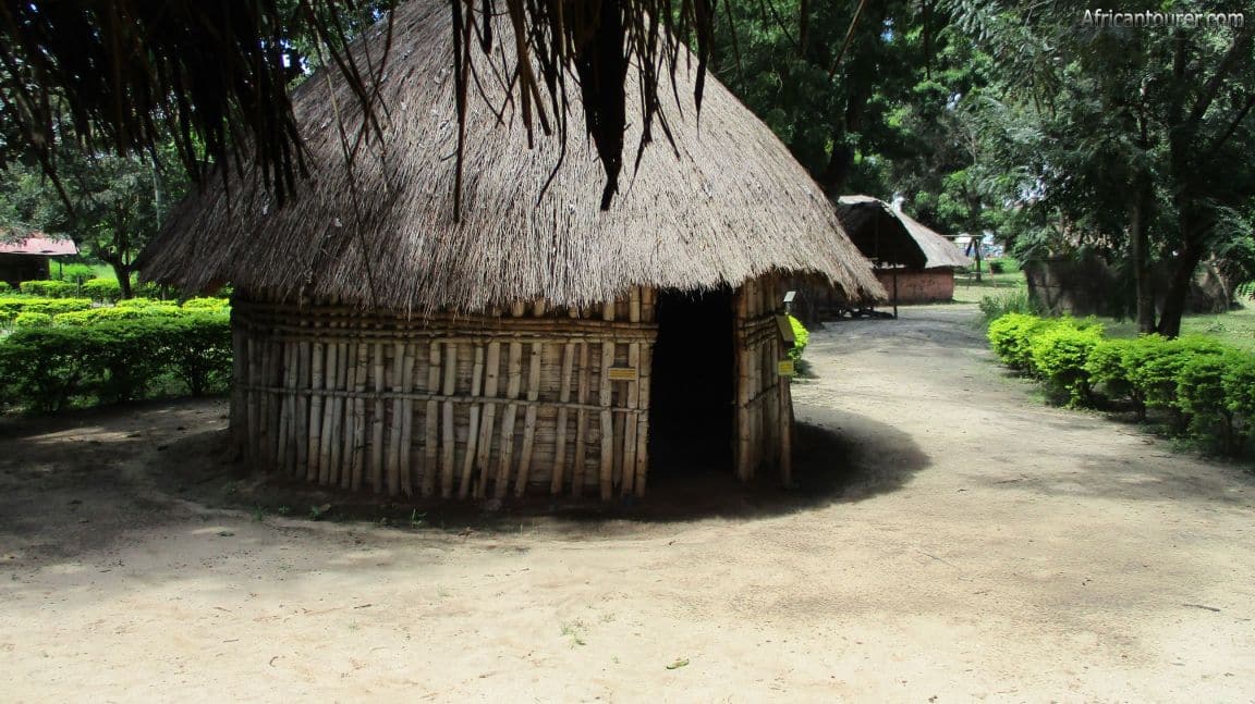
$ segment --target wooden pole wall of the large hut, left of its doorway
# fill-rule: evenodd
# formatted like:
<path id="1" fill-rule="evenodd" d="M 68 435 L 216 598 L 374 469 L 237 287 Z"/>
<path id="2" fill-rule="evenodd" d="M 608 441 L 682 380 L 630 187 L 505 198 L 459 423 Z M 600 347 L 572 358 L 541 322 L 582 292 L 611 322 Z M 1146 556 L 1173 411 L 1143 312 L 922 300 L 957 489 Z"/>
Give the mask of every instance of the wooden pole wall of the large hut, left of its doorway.
<path id="1" fill-rule="evenodd" d="M 257 468 L 348 490 L 640 495 L 653 301 L 638 288 L 585 309 L 530 301 L 419 326 L 240 298 L 233 432 Z"/>

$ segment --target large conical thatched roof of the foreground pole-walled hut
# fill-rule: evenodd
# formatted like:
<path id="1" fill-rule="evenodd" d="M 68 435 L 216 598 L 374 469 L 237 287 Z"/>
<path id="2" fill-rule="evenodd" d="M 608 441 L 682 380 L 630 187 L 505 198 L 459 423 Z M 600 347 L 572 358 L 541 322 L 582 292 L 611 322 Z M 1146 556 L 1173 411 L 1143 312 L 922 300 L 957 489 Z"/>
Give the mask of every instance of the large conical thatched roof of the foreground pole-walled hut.
<path id="1" fill-rule="evenodd" d="M 379 86 L 387 105 L 382 148 L 373 132 L 359 132 L 353 115 L 360 113 L 339 76 L 315 74 L 294 96 L 312 173 L 294 200 L 276 208 L 257 180 L 231 177 L 227 188 L 211 179 L 146 251 L 147 278 L 190 289 L 230 282 L 291 299 L 334 296 L 419 313 L 536 297 L 577 306 L 636 284 L 739 284 L 769 271 L 817 272 L 852 298 L 884 297 L 831 203 L 784 145 L 715 81 L 707 83 L 699 124 L 683 69 L 675 90 L 668 86 L 683 105 L 668 106 L 679 155 L 660 138 L 639 170 L 625 168 L 607 212 L 599 209 L 604 173 L 582 132 L 572 127 L 555 173 L 561 140 L 537 139 L 528 149 L 512 105 L 498 123 L 501 76 L 479 75 L 482 94 L 472 90 L 468 104 L 457 222 L 448 5 L 414 0 L 395 13 Z M 375 28 L 355 50 L 378 56 L 384 41 Z M 511 44 L 508 34 L 497 41 Z M 351 172 L 338 109 L 348 116 L 344 139 L 365 140 Z M 639 100 L 629 99 L 628 144 L 639 139 L 634 109 Z M 579 105 L 570 105 L 567 120 L 582 124 Z"/>

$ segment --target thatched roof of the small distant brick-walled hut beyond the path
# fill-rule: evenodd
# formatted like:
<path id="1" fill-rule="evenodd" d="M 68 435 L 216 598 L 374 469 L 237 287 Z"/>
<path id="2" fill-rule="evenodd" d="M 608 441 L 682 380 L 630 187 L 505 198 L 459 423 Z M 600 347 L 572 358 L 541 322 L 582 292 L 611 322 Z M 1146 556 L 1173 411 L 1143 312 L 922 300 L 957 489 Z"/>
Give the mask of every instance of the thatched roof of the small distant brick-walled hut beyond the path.
<path id="1" fill-rule="evenodd" d="M 842 195 L 837 214 L 858 251 L 881 264 L 912 269 L 971 266 L 971 258 L 953 242 L 877 198 Z"/>

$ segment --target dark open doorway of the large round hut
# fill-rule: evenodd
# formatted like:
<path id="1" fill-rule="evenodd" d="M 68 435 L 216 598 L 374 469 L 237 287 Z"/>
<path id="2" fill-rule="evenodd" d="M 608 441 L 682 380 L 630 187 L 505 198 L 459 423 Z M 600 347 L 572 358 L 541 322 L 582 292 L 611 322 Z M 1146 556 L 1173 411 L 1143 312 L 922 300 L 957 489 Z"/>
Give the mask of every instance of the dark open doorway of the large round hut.
<path id="1" fill-rule="evenodd" d="M 651 363 L 651 480 L 730 472 L 735 430 L 732 288 L 661 289 Z"/>

